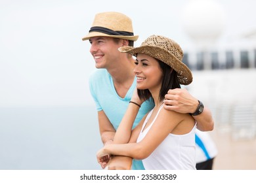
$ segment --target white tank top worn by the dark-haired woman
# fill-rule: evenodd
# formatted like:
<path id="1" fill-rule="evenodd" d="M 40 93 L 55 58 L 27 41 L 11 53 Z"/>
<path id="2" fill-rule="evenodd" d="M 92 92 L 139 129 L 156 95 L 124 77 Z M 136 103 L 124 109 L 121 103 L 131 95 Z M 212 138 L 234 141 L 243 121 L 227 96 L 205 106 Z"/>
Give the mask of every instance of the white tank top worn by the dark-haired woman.
<path id="1" fill-rule="evenodd" d="M 152 114 L 152 110 L 148 113 L 142 129 L 140 131 L 137 142 L 142 141 L 154 122 L 158 114 L 163 108 L 161 105 L 156 117 L 152 123 L 144 129 L 148 118 Z M 144 129 L 144 131 L 142 131 Z M 196 144 L 195 144 L 195 130 L 196 124 L 193 129 L 184 135 L 169 135 L 161 142 L 161 144 L 148 156 L 142 159 L 143 165 L 146 170 L 196 170 Z M 159 131 L 161 133 L 161 131 Z"/>

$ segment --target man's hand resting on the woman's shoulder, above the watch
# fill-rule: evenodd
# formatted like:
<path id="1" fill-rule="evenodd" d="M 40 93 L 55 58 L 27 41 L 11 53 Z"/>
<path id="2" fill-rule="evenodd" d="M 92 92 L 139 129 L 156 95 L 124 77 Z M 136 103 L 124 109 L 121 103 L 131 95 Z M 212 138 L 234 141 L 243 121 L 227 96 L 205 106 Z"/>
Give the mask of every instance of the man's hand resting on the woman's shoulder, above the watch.
<path id="1" fill-rule="evenodd" d="M 188 90 L 175 88 L 165 95 L 163 107 L 179 113 L 193 113 L 198 107 L 198 99 L 194 98 Z"/>

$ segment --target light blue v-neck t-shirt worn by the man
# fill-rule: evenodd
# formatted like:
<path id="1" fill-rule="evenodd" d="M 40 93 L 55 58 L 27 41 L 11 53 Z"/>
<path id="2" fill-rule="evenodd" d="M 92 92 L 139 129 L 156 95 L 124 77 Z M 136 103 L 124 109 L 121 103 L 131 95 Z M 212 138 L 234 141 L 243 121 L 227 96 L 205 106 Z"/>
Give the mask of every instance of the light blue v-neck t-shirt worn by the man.
<path id="1" fill-rule="evenodd" d="M 117 129 L 136 88 L 136 78 L 124 98 L 119 97 L 116 93 L 112 76 L 106 69 L 96 69 L 89 78 L 89 87 L 95 100 L 96 109 L 98 111 L 104 110 L 114 128 Z M 153 107 L 154 102 L 152 100 L 142 103 L 133 127 L 139 124 L 143 116 Z M 134 159 L 132 169 L 144 169 L 142 161 Z"/>

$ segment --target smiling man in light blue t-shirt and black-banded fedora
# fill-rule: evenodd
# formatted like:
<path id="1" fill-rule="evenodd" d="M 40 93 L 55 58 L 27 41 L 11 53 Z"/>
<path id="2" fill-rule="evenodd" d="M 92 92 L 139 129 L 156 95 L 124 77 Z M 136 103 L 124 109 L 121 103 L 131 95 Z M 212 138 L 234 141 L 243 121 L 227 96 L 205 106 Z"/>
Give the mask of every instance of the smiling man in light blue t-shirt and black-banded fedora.
<path id="1" fill-rule="evenodd" d="M 138 35 L 133 34 L 131 19 L 119 12 L 102 12 L 95 16 L 89 34 L 83 41 L 91 42 L 90 52 L 95 59 L 97 70 L 89 79 L 91 95 L 98 110 L 98 123 L 103 144 L 112 143 L 116 129 L 136 88 L 133 73 L 135 60 L 129 54 L 117 49 L 133 46 Z M 154 107 L 152 101 L 145 101 L 135 120 L 137 125 L 142 117 Z M 202 131 L 213 129 L 211 112 L 184 89 L 169 90 L 165 95 L 165 108 L 177 112 L 193 113 Z M 106 167 L 103 165 L 102 168 Z M 144 169 L 141 161 L 133 159 L 133 169 Z"/>

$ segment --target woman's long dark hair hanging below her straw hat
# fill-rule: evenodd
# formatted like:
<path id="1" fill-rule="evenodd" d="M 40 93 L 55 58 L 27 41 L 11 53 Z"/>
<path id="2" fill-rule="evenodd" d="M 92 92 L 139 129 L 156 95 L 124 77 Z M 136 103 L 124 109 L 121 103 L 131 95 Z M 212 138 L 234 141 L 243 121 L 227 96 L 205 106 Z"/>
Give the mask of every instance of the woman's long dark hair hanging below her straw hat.
<path id="1" fill-rule="evenodd" d="M 160 89 L 158 99 L 159 101 L 163 101 L 163 99 L 165 98 L 165 94 L 167 94 L 169 89 L 181 88 L 181 85 L 179 84 L 177 72 L 173 70 L 173 68 L 171 68 L 169 65 L 164 63 L 163 61 L 160 61 L 159 59 L 157 60 L 160 65 L 160 69 L 163 73 L 163 79 L 161 82 L 161 89 Z M 146 90 L 138 89 L 138 95 L 140 99 L 145 99 L 145 100 L 150 99 L 150 97 L 152 97 L 148 89 Z"/>

